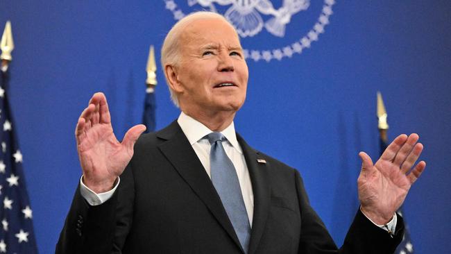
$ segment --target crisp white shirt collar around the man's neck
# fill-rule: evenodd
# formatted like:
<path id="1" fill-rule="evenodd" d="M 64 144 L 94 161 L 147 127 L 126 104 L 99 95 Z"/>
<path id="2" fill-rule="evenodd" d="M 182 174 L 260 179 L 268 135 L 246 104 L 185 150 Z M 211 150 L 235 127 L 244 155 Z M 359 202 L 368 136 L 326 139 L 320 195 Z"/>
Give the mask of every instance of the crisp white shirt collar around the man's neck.
<path id="1" fill-rule="evenodd" d="M 203 137 L 213 132 L 213 130 L 210 130 L 200 121 L 189 117 L 189 115 L 186 115 L 184 112 L 180 113 L 177 122 L 178 125 L 180 125 L 180 128 L 182 128 L 183 133 L 185 133 L 185 136 L 187 136 L 189 144 L 191 145 L 196 144 Z M 228 142 L 230 142 L 230 144 L 232 144 L 232 146 L 237 149 L 239 153 L 243 153 L 241 146 L 239 146 L 238 144 L 237 135 L 235 134 L 235 125 L 233 124 L 233 121 L 232 124 L 221 131 L 221 133 L 222 135 L 224 135 L 224 137 L 226 137 Z"/>

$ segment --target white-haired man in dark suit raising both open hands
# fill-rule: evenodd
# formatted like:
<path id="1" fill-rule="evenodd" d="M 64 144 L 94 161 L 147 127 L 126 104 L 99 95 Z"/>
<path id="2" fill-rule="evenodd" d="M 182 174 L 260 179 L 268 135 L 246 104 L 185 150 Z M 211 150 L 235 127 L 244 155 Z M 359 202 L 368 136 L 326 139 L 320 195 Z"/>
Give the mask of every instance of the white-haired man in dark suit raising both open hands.
<path id="1" fill-rule="evenodd" d="M 395 138 L 375 164 L 359 154 L 361 208 L 338 249 L 298 171 L 235 134 L 248 68 L 226 19 L 180 20 L 162 65 L 182 111 L 167 128 L 139 137 L 137 125 L 119 143 L 101 93 L 80 115 L 83 177 L 56 253 L 393 253 L 403 230 L 395 211 L 425 169 L 414 167 L 418 135 Z"/>

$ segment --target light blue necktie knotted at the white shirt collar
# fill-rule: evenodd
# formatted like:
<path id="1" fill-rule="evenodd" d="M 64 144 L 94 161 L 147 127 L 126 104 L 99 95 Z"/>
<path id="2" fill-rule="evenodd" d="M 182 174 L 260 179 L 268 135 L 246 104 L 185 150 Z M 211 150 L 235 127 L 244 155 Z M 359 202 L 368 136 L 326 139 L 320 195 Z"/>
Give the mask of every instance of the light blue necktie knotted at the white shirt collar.
<path id="1" fill-rule="evenodd" d="M 221 133 L 210 133 L 207 139 L 212 145 L 210 150 L 210 169 L 212 182 L 216 192 L 226 208 L 227 215 L 237 233 L 244 251 L 248 252 L 250 224 L 243 195 L 239 187 L 237 171 L 222 146 L 226 139 Z"/>

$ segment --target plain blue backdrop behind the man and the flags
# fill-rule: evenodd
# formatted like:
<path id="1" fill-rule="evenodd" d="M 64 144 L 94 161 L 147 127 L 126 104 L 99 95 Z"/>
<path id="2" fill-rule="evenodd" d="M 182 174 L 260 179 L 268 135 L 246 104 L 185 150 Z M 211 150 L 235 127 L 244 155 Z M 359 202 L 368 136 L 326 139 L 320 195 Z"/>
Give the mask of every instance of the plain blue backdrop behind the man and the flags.
<path id="1" fill-rule="evenodd" d="M 80 178 L 78 115 L 103 91 L 119 138 L 139 123 L 149 44 L 160 49 L 182 13 L 209 9 L 189 2 L 196 1 L 0 0 L 0 27 L 10 19 L 15 39 L 9 96 L 41 253 L 53 253 Z M 273 8 L 288 2 L 273 1 Z M 448 253 L 451 2 L 306 2 L 307 10 L 291 13 L 283 37 L 263 28 L 241 39 L 250 79 L 237 130 L 299 169 L 312 205 L 341 244 L 358 208 L 357 153 L 374 159 L 379 153 L 380 90 L 390 139 L 416 132 L 425 144 L 427 171 L 405 201 L 416 253 Z M 214 6 L 222 13 L 230 8 Z M 159 129 L 178 109 L 160 67 L 157 75 Z"/>

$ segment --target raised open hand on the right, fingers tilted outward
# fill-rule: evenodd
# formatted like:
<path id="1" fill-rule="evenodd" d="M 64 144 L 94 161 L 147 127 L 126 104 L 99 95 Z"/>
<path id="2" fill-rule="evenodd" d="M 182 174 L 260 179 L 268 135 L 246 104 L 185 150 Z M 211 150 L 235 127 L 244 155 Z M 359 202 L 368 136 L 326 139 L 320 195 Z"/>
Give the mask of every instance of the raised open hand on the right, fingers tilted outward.
<path id="1" fill-rule="evenodd" d="M 416 134 L 399 135 L 375 164 L 366 153 L 359 153 L 362 166 L 357 186 L 361 211 L 379 225 L 391 221 L 426 167 L 424 161 L 414 167 L 423 151 L 418 138 Z"/>

